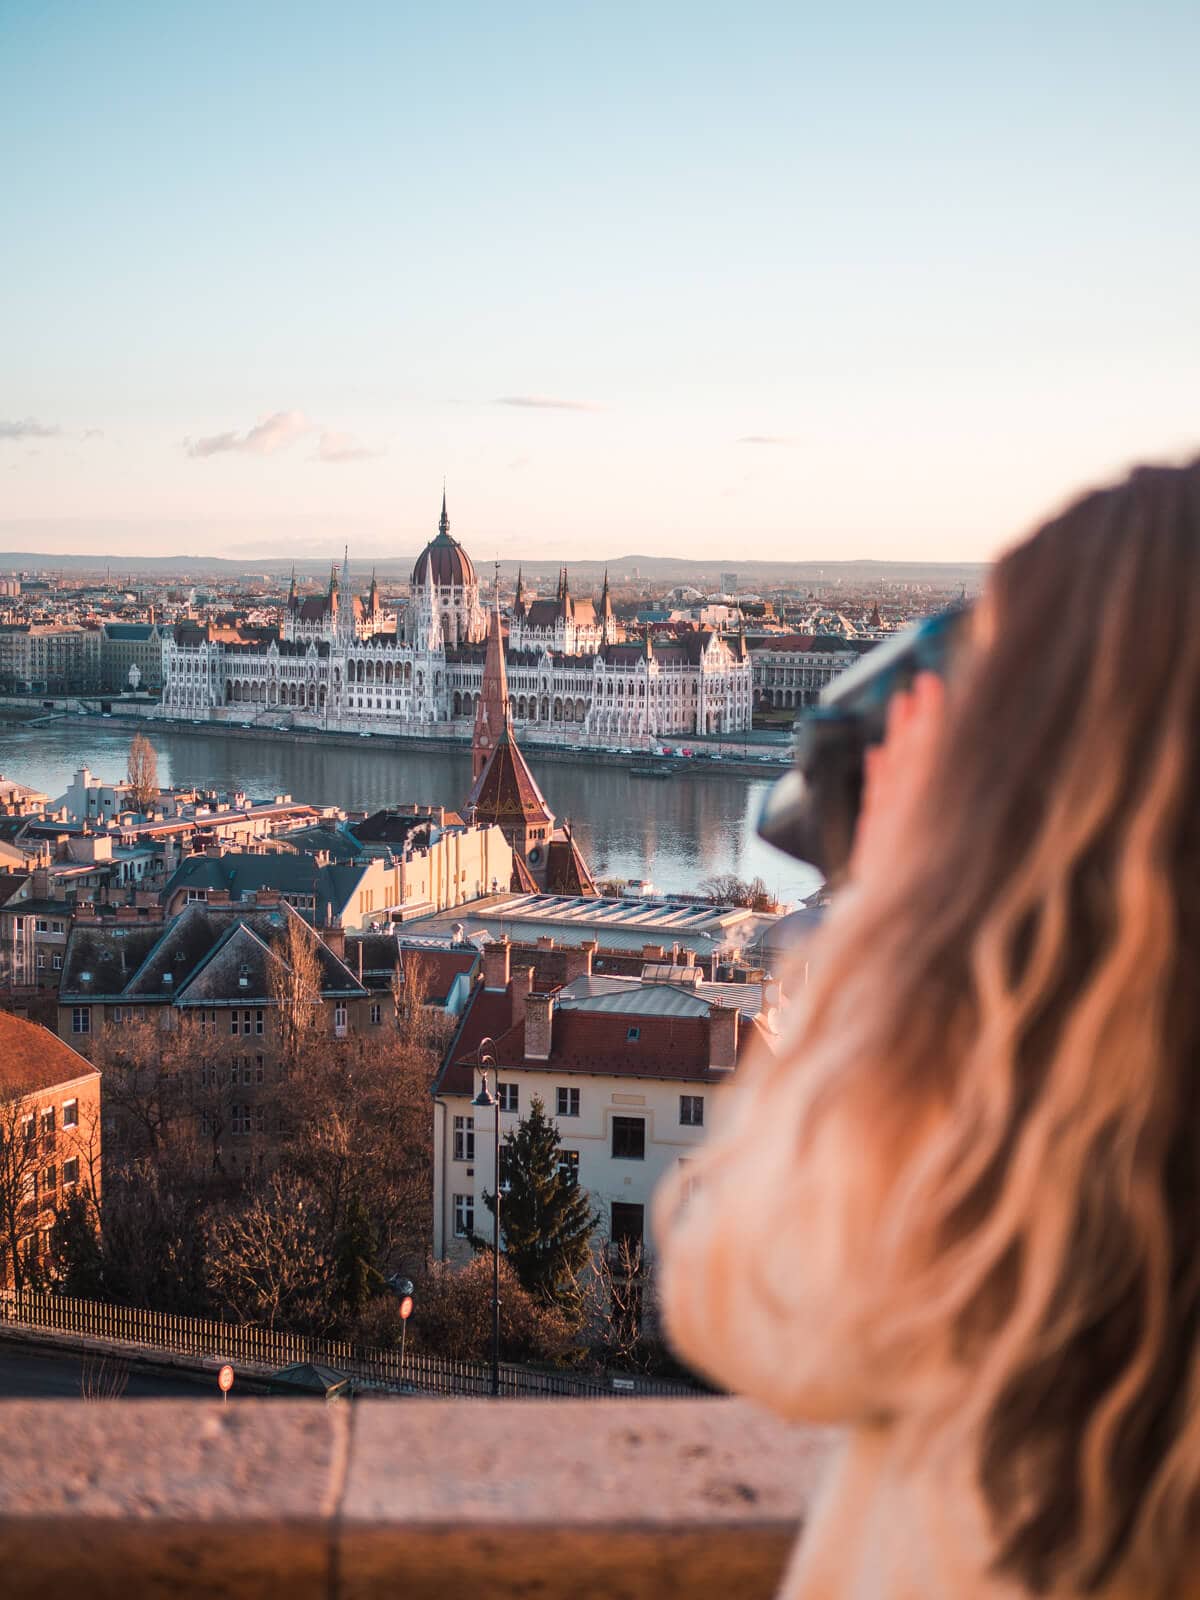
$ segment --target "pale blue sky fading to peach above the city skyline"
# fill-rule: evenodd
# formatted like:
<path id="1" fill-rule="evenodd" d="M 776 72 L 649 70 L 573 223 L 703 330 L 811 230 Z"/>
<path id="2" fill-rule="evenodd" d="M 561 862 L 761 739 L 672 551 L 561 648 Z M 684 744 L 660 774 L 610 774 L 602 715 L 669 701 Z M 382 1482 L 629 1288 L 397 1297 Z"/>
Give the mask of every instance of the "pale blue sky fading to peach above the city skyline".
<path id="1" fill-rule="evenodd" d="M 986 558 L 1200 450 L 1197 59 L 1194 3 L 0 0 L 0 549 L 403 554 L 445 477 L 480 562 Z"/>

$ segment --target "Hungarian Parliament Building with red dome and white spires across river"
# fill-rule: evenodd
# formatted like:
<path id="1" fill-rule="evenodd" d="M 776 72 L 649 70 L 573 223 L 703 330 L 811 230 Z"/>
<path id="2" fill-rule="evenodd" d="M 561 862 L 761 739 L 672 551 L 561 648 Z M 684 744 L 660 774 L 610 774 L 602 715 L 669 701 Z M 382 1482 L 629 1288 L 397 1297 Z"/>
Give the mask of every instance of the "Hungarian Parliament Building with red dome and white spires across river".
<path id="1" fill-rule="evenodd" d="M 374 579 L 366 595 L 352 592 L 347 558 L 320 597 L 301 598 L 293 579 L 275 630 L 181 622 L 163 642 L 162 715 L 467 734 L 486 635 L 478 578 L 451 538 L 443 496 L 437 538 L 398 611 L 382 610 Z M 526 597 L 518 579 L 506 664 L 512 722 L 533 739 L 645 749 L 750 726 L 746 642 L 707 629 L 627 640 L 608 579 L 598 602 L 574 598 L 566 570 L 554 598 Z"/>

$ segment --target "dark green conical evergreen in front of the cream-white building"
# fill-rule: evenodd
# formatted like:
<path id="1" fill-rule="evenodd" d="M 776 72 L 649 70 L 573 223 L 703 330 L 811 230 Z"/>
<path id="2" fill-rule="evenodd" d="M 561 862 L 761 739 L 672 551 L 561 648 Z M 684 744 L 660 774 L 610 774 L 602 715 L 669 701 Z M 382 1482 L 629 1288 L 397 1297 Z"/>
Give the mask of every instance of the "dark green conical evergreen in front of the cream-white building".
<path id="1" fill-rule="evenodd" d="M 504 1134 L 501 1238 L 522 1286 L 566 1304 L 590 1259 L 598 1218 L 560 1162 L 558 1126 L 534 1096 L 530 1115 Z M 485 1192 L 483 1203 L 494 1214 L 496 1197 Z"/>

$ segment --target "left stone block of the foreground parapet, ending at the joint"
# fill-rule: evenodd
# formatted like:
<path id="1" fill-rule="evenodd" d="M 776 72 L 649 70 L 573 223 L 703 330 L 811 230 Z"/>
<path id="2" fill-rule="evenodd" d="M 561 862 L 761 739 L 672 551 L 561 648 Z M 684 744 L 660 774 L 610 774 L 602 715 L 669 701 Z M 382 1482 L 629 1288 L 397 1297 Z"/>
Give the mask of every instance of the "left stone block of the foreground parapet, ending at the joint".
<path id="1" fill-rule="evenodd" d="M 325 1597 L 349 1432 L 307 1402 L 3 1402 L 3 1592 Z"/>

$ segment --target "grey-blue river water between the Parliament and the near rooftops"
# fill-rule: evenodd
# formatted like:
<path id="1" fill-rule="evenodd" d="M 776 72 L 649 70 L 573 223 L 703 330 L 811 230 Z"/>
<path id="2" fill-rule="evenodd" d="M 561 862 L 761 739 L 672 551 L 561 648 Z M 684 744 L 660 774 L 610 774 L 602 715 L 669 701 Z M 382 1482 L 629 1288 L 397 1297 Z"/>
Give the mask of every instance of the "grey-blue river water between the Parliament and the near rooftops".
<path id="1" fill-rule="evenodd" d="M 312 805 L 378 810 L 397 803 L 461 805 L 470 787 L 466 750 L 394 750 L 286 742 L 200 730 L 146 730 L 158 752 L 158 781 L 243 789 L 253 798 L 290 794 Z M 90 766 L 99 778 L 125 774 L 131 730 L 101 722 L 0 728 L 0 773 L 58 798 L 72 774 Z M 597 877 L 650 878 L 680 894 L 707 877 L 733 872 L 762 877 L 782 901 L 795 902 L 819 875 L 765 845 L 754 830 L 770 778 L 702 773 L 670 779 L 630 778 L 627 757 L 544 762 L 530 752 L 542 792 L 558 819 L 570 819 Z"/>

